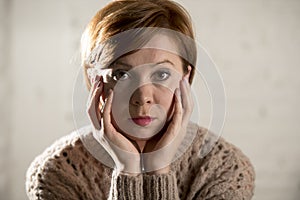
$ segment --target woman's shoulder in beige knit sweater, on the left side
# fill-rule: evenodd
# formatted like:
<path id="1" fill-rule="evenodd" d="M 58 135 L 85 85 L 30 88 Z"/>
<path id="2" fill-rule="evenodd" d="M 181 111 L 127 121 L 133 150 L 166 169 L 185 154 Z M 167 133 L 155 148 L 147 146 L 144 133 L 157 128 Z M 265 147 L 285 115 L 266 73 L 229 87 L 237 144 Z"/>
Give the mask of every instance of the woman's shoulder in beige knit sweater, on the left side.
<path id="1" fill-rule="evenodd" d="M 83 190 L 94 181 L 89 180 L 90 177 L 101 179 L 105 170 L 105 166 L 86 150 L 79 133 L 74 131 L 54 142 L 31 163 L 26 174 L 27 195 L 30 199 L 89 196 Z M 99 189 L 94 192 L 100 193 Z"/>

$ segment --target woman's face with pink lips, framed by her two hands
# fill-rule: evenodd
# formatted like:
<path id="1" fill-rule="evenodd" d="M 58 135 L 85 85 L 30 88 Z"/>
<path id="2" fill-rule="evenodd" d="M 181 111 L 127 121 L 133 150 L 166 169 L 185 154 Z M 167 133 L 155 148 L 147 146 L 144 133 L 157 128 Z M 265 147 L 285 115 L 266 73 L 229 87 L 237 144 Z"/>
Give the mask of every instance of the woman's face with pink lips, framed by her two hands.
<path id="1" fill-rule="evenodd" d="M 143 48 L 119 58 L 105 84 L 106 91 L 114 91 L 113 125 L 134 140 L 159 133 L 172 118 L 174 91 L 182 77 L 181 58 L 166 50 Z"/>

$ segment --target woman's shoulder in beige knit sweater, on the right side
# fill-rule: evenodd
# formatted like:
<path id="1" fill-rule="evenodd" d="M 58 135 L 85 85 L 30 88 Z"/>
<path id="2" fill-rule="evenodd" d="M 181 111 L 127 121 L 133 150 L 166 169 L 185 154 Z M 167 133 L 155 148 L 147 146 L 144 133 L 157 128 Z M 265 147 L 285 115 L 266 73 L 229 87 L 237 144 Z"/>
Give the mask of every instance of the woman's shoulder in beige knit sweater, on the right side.
<path id="1" fill-rule="evenodd" d="M 197 177 L 191 188 L 200 199 L 213 196 L 251 199 L 253 196 L 253 165 L 238 147 L 224 138 L 197 126 L 190 157 L 188 163 L 193 175 Z"/>

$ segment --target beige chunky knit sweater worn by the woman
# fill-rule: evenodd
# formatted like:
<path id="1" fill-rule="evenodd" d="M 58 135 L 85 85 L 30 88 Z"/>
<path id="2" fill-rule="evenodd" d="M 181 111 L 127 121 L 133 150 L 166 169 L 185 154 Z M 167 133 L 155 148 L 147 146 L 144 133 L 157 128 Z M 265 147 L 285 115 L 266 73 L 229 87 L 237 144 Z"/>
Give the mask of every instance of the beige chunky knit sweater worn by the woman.
<path id="1" fill-rule="evenodd" d="M 32 162 L 26 177 L 27 195 L 31 200 L 101 200 L 108 199 L 110 192 L 118 200 L 251 199 L 255 175 L 249 159 L 222 138 L 200 158 L 208 131 L 194 124 L 188 129 L 195 137 L 168 174 L 138 176 L 116 175 L 82 142 L 87 138 L 92 144 L 91 133 L 83 137 L 72 133 Z"/>

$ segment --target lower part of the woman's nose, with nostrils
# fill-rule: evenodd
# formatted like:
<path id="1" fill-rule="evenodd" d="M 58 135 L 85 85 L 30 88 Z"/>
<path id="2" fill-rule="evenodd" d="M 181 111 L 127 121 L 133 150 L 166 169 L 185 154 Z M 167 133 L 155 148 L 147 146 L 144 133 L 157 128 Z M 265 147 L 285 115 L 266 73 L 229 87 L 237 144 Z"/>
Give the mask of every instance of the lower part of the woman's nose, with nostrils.
<path id="1" fill-rule="evenodd" d="M 131 96 L 130 103 L 136 106 L 153 104 L 153 90 L 150 85 L 143 85 L 137 88 Z"/>

